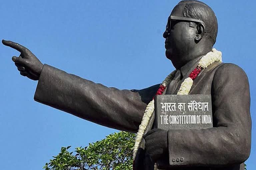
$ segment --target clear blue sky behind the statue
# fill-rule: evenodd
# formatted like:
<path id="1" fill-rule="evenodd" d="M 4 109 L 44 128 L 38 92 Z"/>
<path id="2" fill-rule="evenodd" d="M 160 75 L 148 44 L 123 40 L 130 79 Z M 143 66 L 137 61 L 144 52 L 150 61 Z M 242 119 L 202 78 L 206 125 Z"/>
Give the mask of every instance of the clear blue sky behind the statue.
<path id="1" fill-rule="evenodd" d="M 174 68 L 165 58 L 162 33 L 178 3 L 163 1 L 4 1 L 0 38 L 28 47 L 43 63 L 119 89 L 141 89 L 162 82 Z M 254 1 L 203 1 L 215 12 L 215 47 L 223 61 L 248 75 L 251 91 L 252 150 L 256 166 Z M 0 167 L 41 169 L 61 146 L 86 146 L 117 130 L 82 120 L 33 100 L 37 82 L 19 75 L 0 45 Z"/>

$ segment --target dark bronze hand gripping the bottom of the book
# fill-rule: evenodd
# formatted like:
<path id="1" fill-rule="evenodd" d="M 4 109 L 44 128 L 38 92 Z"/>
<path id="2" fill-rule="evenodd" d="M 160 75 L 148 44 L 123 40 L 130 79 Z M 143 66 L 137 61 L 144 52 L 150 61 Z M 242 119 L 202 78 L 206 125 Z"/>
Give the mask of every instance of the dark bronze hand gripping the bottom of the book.
<path id="1" fill-rule="evenodd" d="M 146 141 L 146 152 L 156 162 L 168 153 L 168 131 L 163 129 L 152 129 L 143 137 Z"/>

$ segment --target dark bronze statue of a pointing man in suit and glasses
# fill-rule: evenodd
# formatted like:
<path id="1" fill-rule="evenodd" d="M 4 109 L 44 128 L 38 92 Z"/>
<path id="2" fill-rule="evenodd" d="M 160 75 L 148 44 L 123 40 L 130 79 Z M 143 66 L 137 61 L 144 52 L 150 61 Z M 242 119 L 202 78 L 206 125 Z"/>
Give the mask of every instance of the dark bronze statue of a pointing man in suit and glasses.
<path id="1" fill-rule="evenodd" d="M 196 0 L 179 2 L 168 18 L 166 57 L 178 70 L 165 94 L 177 94 L 202 56 L 212 50 L 218 32 L 212 9 Z M 118 90 L 42 64 L 26 47 L 2 41 L 21 52 L 12 57 L 20 74 L 38 80 L 34 99 L 97 124 L 137 132 L 159 84 L 142 90 Z M 189 94 L 211 94 L 213 128 L 151 129 L 134 169 L 243 170 L 251 148 L 249 83 L 237 65 L 214 62 L 194 80 Z M 103 119 L 104 118 L 104 119 Z M 151 129 L 151 130 L 150 130 Z"/>

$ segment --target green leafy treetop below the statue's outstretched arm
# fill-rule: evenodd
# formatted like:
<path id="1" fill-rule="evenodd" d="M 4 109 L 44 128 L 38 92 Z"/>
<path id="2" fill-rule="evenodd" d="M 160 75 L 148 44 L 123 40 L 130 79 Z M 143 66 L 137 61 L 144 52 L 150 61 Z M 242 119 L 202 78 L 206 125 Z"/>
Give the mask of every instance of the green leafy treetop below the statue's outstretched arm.
<path id="1" fill-rule="evenodd" d="M 43 167 L 45 170 L 132 170 L 132 151 L 135 134 L 113 133 L 105 139 L 77 147 L 69 152 L 62 147 L 57 156 Z"/>

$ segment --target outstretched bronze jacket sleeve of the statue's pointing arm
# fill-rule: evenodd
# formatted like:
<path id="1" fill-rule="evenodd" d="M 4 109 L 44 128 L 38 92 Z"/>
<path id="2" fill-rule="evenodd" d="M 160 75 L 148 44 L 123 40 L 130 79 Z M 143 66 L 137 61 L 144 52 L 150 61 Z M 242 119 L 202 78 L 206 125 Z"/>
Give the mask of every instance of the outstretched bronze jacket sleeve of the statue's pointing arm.
<path id="1" fill-rule="evenodd" d="M 34 100 L 103 126 L 137 132 L 158 87 L 108 88 L 45 64 Z"/>

